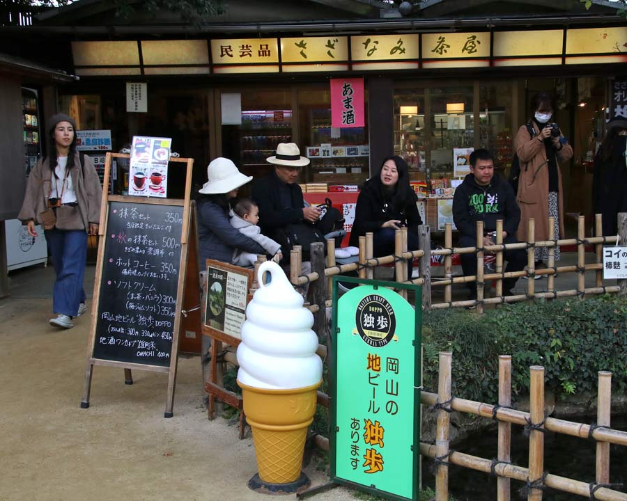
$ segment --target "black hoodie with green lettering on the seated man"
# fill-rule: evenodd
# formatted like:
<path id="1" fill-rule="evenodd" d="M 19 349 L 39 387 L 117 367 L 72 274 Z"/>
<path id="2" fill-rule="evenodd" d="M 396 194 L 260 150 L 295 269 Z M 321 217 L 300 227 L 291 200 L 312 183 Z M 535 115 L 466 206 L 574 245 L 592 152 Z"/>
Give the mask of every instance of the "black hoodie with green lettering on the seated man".
<path id="1" fill-rule="evenodd" d="M 488 186 L 479 186 L 474 175 L 467 174 L 453 198 L 453 221 L 458 231 L 477 237 L 477 221 L 483 221 L 483 231 L 490 232 L 496 230 L 497 219 L 503 220 L 508 235 L 516 234 L 520 209 L 513 189 L 496 174 Z"/>

